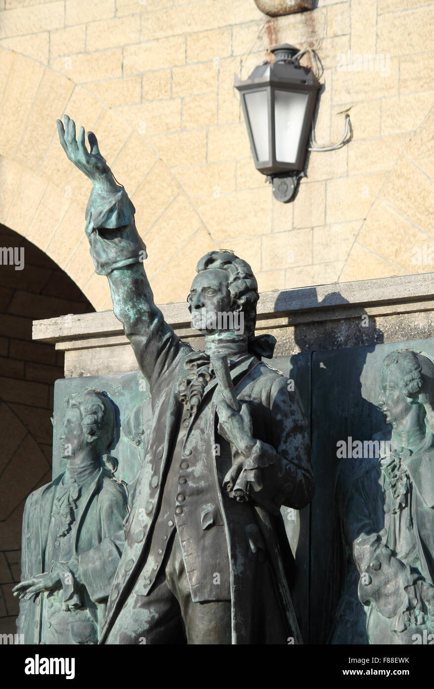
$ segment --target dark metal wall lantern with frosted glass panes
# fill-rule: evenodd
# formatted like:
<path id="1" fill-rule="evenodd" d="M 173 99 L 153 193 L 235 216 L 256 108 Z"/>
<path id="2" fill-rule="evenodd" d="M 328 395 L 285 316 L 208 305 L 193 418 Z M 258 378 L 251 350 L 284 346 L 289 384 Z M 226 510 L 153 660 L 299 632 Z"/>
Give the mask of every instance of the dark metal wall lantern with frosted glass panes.
<path id="1" fill-rule="evenodd" d="M 272 180 L 273 194 L 292 198 L 303 171 L 320 83 L 297 59 L 299 50 L 284 43 L 273 48 L 274 62 L 254 68 L 245 81 L 235 76 L 241 94 L 254 164 Z"/>

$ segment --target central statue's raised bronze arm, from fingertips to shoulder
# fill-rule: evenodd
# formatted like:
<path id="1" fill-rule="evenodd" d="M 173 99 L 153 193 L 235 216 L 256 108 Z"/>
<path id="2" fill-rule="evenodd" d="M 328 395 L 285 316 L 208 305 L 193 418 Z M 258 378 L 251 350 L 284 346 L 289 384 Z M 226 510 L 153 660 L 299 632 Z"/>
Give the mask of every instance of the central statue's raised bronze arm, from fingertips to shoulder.
<path id="1" fill-rule="evenodd" d="M 118 185 L 95 134 L 80 127 L 76 138 L 74 120 L 57 121 L 63 150 L 94 185 L 86 209 L 86 234 L 96 273 L 109 279 L 113 311 L 122 322 L 144 376 L 153 385 L 168 369 L 180 349 L 180 340 L 164 321 L 153 301 L 144 271 L 146 247 L 135 227 L 135 208 L 125 189 Z"/>

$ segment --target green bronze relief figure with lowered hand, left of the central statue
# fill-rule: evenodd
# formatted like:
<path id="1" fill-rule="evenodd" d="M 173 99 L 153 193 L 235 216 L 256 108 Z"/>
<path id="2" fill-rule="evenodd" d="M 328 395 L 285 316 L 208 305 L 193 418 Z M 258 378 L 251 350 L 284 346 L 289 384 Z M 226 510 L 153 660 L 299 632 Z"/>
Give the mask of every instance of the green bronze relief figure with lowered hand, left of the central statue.
<path id="1" fill-rule="evenodd" d="M 96 644 L 124 544 L 127 493 L 108 455 L 111 400 L 87 389 L 66 400 L 67 468 L 25 502 L 17 630 L 25 644 Z"/>

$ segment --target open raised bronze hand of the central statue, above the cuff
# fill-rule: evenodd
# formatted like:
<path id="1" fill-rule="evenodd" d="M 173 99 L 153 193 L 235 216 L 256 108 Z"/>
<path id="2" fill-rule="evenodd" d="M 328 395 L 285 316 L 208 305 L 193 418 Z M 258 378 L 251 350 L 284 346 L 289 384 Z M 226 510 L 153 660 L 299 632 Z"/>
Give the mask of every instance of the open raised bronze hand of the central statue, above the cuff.
<path id="1" fill-rule="evenodd" d="M 69 160 L 78 167 L 89 179 L 102 191 L 116 191 L 118 185 L 114 181 L 111 169 L 100 154 L 98 141 L 94 132 L 87 132 L 89 149 L 85 143 L 85 128 L 80 127 L 76 138 L 76 123 L 67 115 L 63 117 L 65 126 L 61 120 L 57 120 L 58 138 Z"/>

